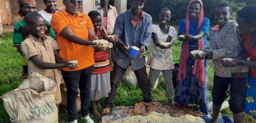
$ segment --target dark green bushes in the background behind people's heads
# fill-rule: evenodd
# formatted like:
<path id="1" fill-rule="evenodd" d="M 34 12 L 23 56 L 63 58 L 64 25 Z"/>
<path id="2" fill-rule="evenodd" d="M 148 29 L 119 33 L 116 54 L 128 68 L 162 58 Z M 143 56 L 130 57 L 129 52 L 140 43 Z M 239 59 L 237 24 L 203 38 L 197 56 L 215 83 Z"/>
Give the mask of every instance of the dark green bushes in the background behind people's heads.
<path id="1" fill-rule="evenodd" d="M 244 7 L 246 4 L 256 4 L 255 0 L 202 0 L 204 7 L 204 17 L 210 19 L 211 25 L 216 25 L 214 21 L 214 8 L 221 2 L 230 2 L 233 6 L 233 20 L 236 17 L 236 12 Z M 143 11 L 151 15 L 153 22 L 158 23 L 158 15 L 161 8 L 169 8 L 172 12 L 172 18 L 169 23 L 172 25 L 178 25 L 181 19 L 186 18 L 186 10 L 190 0 L 148 0 L 145 4 Z M 245 2 L 245 3 L 244 3 Z M 109 0 L 110 5 L 114 5 L 114 0 Z M 157 6 L 156 6 L 157 5 Z M 130 9 L 131 5 L 127 0 L 127 9 Z"/>

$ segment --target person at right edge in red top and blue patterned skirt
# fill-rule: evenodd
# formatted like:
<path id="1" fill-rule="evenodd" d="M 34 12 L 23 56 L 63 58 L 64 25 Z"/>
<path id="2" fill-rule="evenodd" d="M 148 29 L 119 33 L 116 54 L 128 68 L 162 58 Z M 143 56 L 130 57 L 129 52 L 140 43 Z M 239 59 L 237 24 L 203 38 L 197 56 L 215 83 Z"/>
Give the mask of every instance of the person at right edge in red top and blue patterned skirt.
<path id="1" fill-rule="evenodd" d="M 229 67 L 249 66 L 249 79 L 245 90 L 243 123 L 256 121 L 256 5 L 247 5 L 237 12 L 236 22 L 242 38 L 243 51 L 232 61 L 224 61 Z M 250 57 L 250 61 L 245 60 Z"/>

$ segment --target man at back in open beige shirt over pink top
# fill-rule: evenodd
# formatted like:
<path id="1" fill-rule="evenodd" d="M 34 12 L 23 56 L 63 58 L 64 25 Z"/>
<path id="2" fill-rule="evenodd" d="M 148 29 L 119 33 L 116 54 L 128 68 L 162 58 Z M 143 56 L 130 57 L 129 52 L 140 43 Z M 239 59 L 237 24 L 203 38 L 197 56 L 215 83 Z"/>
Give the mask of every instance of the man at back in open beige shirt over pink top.
<path id="1" fill-rule="evenodd" d="M 109 0 L 100 0 L 100 5 L 95 6 L 93 11 L 100 12 L 101 15 L 101 26 L 106 29 L 106 33 L 111 35 L 114 30 L 115 21 L 117 18 L 117 9 L 109 5 Z M 115 62 L 115 49 L 109 48 L 109 63 L 113 68 Z"/>

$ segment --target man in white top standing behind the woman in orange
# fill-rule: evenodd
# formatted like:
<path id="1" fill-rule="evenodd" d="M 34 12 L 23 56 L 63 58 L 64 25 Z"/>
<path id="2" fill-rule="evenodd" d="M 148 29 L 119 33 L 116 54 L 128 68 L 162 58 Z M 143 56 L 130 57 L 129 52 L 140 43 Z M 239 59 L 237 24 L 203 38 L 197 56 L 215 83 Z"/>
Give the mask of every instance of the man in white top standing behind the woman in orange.
<path id="1" fill-rule="evenodd" d="M 57 0 L 43 0 L 43 3 L 46 5 L 46 8 L 44 10 L 40 10 L 38 13 L 51 23 L 52 14 L 55 12 L 61 12 L 61 10 L 56 8 Z"/>

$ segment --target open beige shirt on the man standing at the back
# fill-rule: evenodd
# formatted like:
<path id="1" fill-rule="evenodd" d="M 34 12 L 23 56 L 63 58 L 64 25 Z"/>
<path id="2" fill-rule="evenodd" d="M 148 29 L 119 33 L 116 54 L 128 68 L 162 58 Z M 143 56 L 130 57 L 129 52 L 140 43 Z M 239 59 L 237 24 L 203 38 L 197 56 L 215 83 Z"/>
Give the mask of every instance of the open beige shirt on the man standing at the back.
<path id="1" fill-rule="evenodd" d="M 93 11 L 97 11 L 101 15 L 101 27 L 104 26 L 104 19 L 103 19 L 103 9 L 100 7 L 100 5 L 95 6 Z M 107 28 L 107 33 L 108 35 L 111 35 L 114 31 L 114 26 L 115 26 L 115 21 L 117 18 L 117 9 L 114 6 L 109 5 L 109 11 L 108 11 L 108 28 Z"/>

